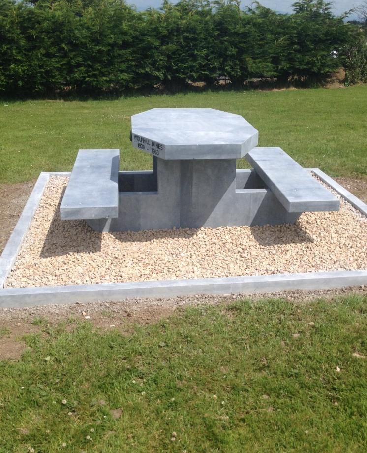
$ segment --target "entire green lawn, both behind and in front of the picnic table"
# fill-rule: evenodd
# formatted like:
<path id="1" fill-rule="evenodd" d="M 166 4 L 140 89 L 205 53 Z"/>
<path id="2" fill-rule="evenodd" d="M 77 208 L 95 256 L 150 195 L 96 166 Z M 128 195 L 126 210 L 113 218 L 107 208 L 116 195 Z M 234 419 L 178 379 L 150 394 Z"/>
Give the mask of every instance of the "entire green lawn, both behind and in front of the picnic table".
<path id="1" fill-rule="evenodd" d="M 150 168 L 129 131 L 153 107 L 238 113 L 260 146 L 367 177 L 367 86 L 355 86 L 0 102 L 0 182 L 70 170 L 79 148 Z M 0 453 L 367 451 L 366 296 L 187 308 L 123 333 L 33 324 L 22 358 L 0 361 Z"/>

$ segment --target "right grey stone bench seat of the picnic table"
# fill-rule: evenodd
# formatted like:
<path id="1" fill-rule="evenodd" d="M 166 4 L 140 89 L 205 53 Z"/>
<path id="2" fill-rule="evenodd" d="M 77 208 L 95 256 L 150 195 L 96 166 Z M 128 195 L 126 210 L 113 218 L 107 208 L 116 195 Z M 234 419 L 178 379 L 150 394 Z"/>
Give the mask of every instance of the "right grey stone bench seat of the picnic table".
<path id="1" fill-rule="evenodd" d="M 245 158 L 288 212 L 339 210 L 336 196 L 281 148 L 253 148 Z"/>

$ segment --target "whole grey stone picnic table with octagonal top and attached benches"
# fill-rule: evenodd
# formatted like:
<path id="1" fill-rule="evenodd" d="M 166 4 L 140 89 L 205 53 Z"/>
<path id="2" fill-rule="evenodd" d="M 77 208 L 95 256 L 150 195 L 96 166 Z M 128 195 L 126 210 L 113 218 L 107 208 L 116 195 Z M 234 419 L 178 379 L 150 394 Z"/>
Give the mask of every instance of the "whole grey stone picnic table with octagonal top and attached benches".
<path id="1" fill-rule="evenodd" d="M 305 211 L 339 209 L 283 150 L 256 148 L 258 131 L 240 115 L 153 108 L 131 117 L 131 141 L 153 156 L 153 171 L 118 172 L 118 150 L 80 150 L 61 219 L 86 219 L 98 231 L 139 231 L 294 223 Z M 236 170 L 242 157 L 254 169 Z"/>

